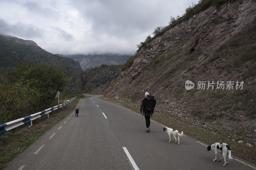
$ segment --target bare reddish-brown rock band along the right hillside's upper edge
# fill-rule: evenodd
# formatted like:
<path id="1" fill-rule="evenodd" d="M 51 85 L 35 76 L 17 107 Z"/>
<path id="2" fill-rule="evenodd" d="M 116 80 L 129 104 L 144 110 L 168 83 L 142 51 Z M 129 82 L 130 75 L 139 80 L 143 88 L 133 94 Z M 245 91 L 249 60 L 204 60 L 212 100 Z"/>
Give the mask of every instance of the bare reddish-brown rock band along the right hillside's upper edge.
<path id="1" fill-rule="evenodd" d="M 124 71 L 125 76 L 119 77 L 105 94 L 119 96 L 118 92 L 127 86 L 127 82 L 134 80 L 137 74 L 148 66 L 150 60 L 164 52 L 174 50 L 177 53 L 185 52 L 186 55 L 211 55 L 213 49 L 250 24 L 255 19 L 255 11 L 256 3 L 252 0 L 230 2 L 219 8 L 211 6 L 162 35 L 154 37 L 140 49 L 132 66 Z"/>

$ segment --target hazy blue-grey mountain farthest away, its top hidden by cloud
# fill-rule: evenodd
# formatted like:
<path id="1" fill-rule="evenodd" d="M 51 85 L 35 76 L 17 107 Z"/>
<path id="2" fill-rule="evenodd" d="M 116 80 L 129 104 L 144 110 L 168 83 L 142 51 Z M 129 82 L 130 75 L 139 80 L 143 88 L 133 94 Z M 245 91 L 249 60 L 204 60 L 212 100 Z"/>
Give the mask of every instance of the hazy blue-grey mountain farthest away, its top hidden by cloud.
<path id="1" fill-rule="evenodd" d="M 120 65 L 124 64 L 126 60 L 132 55 L 121 54 L 77 54 L 67 55 L 66 57 L 79 61 L 80 66 L 85 71 L 88 68 L 100 67 L 102 64 L 106 65 Z"/>

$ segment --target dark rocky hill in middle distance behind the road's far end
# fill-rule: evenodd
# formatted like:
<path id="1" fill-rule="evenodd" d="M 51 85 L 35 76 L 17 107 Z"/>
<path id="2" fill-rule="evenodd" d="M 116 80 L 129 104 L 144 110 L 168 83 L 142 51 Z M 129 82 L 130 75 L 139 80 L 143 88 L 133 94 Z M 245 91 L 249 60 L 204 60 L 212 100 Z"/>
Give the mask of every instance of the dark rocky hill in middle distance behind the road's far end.
<path id="1" fill-rule="evenodd" d="M 100 85 L 109 83 L 121 73 L 122 65 L 101 65 L 100 67 L 90 68 L 83 73 L 69 78 L 67 83 L 71 93 L 88 93 Z"/>

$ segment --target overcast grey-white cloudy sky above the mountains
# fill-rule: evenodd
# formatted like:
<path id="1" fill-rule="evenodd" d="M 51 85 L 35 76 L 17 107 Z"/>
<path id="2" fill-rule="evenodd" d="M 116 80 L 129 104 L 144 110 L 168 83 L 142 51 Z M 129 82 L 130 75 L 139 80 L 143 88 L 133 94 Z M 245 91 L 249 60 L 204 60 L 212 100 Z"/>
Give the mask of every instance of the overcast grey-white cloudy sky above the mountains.
<path id="1" fill-rule="evenodd" d="M 53 54 L 133 54 L 198 0 L 0 0 L 0 33 Z"/>

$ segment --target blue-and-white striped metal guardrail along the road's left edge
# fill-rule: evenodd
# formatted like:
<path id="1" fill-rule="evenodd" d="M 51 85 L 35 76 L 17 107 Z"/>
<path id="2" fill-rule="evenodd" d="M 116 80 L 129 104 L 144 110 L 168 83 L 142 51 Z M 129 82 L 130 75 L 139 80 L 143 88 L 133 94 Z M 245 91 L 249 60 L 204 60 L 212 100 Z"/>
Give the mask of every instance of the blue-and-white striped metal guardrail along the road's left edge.
<path id="1" fill-rule="evenodd" d="M 57 105 L 57 106 L 54 106 L 54 107 L 51 107 L 49 109 L 46 109 L 46 110 L 43 110 L 43 111 L 40 111 L 40 112 L 37 112 L 33 115 L 29 115 L 29 116 L 26 116 L 26 117 L 22 117 L 22 118 L 19 118 L 19 119 L 16 119 L 16 120 L 13 120 L 11 122 L 7 122 L 7 123 L 4 123 L 4 124 L 0 124 L 0 134 L 6 132 L 6 131 L 10 131 L 11 129 L 14 129 L 18 126 L 21 126 L 25 123 L 28 123 L 30 122 L 31 123 L 31 126 L 33 125 L 32 121 L 39 118 L 39 117 L 42 117 L 44 115 L 48 115 L 48 118 L 49 118 L 49 113 L 54 111 L 54 110 L 57 110 L 57 109 L 60 109 L 62 107 L 63 109 L 63 106 L 67 105 L 68 103 L 71 103 L 76 97 L 74 97 L 73 99 L 71 100 L 68 100 L 67 102 L 65 103 L 62 103 L 60 105 Z"/>

